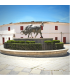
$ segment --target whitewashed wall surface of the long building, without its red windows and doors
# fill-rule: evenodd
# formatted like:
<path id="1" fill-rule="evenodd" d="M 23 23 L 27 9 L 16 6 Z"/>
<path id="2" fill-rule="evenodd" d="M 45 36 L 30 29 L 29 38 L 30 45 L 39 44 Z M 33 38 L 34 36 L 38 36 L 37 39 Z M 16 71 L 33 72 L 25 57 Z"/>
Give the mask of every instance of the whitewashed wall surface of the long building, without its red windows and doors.
<path id="1" fill-rule="evenodd" d="M 13 39 L 13 34 L 15 34 L 16 38 L 27 38 L 28 35 L 21 35 L 20 32 L 20 26 L 23 26 L 23 30 L 28 24 L 13 24 L 10 26 L 4 26 L 0 27 L 0 43 L 2 43 L 2 37 L 5 37 L 5 41 L 8 40 L 8 37 L 10 39 Z M 41 24 L 33 24 L 36 26 L 40 26 Z M 55 30 L 55 26 L 58 26 L 58 30 Z M 8 31 L 8 27 L 10 27 L 10 31 Z M 69 25 L 68 24 L 59 24 L 59 23 L 46 23 L 44 24 L 43 30 L 41 30 L 43 38 L 53 38 L 55 40 L 55 37 L 58 37 L 58 40 L 61 41 L 61 32 L 62 32 L 62 42 L 63 37 L 66 37 L 66 43 L 69 43 Z M 2 36 L 1 36 L 2 34 Z M 35 37 L 36 34 L 32 33 L 32 36 Z M 29 36 L 31 37 L 31 35 Z M 40 38 L 40 34 L 37 35 L 36 38 Z"/>

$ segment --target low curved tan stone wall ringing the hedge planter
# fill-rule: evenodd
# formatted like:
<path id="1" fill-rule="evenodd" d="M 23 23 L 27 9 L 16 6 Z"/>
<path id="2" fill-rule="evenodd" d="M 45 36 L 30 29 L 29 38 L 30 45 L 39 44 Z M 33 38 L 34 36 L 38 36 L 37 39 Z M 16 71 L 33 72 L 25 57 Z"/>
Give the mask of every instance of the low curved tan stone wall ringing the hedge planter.
<path id="1" fill-rule="evenodd" d="M 59 50 L 10 50 L 1 49 L 1 53 L 14 56 L 29 56 L 29 57 L 55 57 L 67 55 L 68 49 Z"/>

